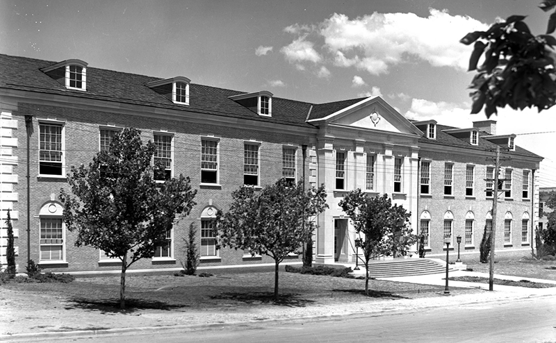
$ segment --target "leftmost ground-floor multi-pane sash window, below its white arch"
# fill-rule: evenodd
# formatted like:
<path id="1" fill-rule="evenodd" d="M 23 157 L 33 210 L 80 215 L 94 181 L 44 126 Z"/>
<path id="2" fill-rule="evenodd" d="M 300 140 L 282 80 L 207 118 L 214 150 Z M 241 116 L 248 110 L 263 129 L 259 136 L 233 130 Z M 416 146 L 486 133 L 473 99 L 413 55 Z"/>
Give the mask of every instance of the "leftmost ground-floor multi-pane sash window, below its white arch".
<path id="1" fill-rule="evenodd" d="M 64 229 L 62 218 L 40 219 L 40 260 L 64 260 Z"/>

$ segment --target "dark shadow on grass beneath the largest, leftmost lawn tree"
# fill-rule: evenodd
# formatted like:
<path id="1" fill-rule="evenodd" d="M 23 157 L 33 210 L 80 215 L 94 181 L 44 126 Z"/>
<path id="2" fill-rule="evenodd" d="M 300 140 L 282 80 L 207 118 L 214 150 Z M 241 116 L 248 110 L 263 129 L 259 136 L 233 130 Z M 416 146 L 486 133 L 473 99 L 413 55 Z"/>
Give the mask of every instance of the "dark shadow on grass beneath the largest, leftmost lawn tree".
<path id="1" fill-rule="evenodd" d="M 98 299 L 90 300 L 85 298 L 70 298 L 70 303 L 72 306 L 66 306 L 65 310 L 73 310 L 75 308 L 81 308 L 82 310 L 99 311 L 102 314 L 105 313 L 131 313 L 138 310 L 174 310 L 177 308 L 183 308 L 183 305 L 170 305 L 163 303 L 162 301 L 156 300 L 144 300 L 144 299 L 126 299 L 126 308 L 122 310 L 120 308 L 120 299 Z"/>

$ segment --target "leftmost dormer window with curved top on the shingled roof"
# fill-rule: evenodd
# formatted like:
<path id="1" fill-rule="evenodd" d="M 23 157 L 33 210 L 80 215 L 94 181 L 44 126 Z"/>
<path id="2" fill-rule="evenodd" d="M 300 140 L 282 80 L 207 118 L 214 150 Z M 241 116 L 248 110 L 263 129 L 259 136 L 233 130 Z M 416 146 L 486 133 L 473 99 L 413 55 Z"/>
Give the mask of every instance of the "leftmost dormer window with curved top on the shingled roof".
<path id="1" fill-rule="evenodd" d="M 65 60 L 41 70 L 68 90 L 87 90 L 87 63 L 82 60 Z"/>

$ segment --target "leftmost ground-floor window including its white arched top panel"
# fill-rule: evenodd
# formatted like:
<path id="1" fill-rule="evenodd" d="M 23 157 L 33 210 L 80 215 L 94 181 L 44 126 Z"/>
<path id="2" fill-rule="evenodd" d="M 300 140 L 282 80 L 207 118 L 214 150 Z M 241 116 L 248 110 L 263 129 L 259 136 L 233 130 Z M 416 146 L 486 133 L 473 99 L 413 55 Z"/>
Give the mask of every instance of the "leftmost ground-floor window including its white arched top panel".
<path id="1" fill-rule="evenodd" d="M 40 262 L 65 262 L 64 208 L 56 201 L 49 201 L 39 210 Z"/>

